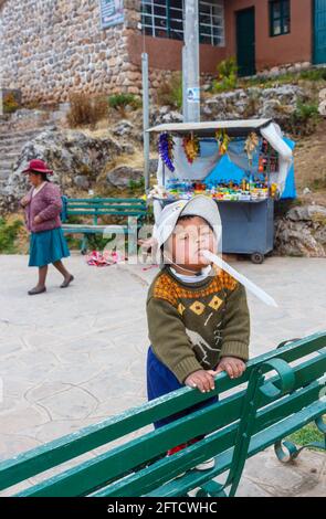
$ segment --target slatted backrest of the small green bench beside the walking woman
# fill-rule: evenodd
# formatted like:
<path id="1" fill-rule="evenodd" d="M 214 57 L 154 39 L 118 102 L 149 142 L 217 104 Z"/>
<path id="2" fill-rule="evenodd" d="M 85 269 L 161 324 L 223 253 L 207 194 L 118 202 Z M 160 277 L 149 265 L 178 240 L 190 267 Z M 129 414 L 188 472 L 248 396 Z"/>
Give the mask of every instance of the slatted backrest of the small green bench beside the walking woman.
<path id="1" fill-rule="evenodd" d="M 63 197 L 62 221 L 70 215 L 93 216 L 97 223 L 98 216 L 135 216 L 144 220 L 147 214 L 146 201 L 143 199 L 70 199 Z"/>

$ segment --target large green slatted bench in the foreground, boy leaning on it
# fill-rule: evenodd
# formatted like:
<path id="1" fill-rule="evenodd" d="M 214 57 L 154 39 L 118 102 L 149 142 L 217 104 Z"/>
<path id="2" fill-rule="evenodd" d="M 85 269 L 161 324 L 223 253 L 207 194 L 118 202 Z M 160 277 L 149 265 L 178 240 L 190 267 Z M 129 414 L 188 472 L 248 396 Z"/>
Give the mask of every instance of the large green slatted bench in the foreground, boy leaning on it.
<path id="1" fill-rule="evenodd" d="M 15 484 L 107 446 L 104 454 L 73 468 L 61 466 L 61 473 L 14 495 L 177 497 L 192 490 L 197 497 L 234 496 L 249 457 L 274 445 L 281 460 L 295 458 L 302 449 L 283 438 L 312 421 L 326 438 L 325 371 L 326 332 L 295 340 L 249 361 L 239 380 L 219 374 L 214 390 L 219 402 L 159 430 L 139 431 L 213 393 L 182 388 L 2 462 L 0 489 L 7 489 L 9 495 L 8 489 Z M 124 444 L 107 445 L 130 433 L 134 437 L 127 436 Z M 207 436 L 172 456 L 165 456 L 167 449 L 201 434 Z M 325 441 L 314 446 L 325 449 Z M 214 468 L 204 472 L 193 468 L 211 456 L 215 457 Z M 222 474 L 225 483 L 217 483 L 213 478 Z"/>

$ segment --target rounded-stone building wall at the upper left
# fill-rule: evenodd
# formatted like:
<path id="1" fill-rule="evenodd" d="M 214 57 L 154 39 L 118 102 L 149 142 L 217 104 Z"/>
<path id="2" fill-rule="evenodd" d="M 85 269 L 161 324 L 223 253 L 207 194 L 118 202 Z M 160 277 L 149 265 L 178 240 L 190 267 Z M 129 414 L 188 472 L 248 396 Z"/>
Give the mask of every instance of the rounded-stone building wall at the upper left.
<path id="1" fill-rule="evenodd" d="M 64 102 L 78 91 L 138 93 L 127 39 L 137 30 L 139 0 L 124 6 L 124 24 L 103 30 L 98 0 L 2 1 L 1 86 L 20 88 L 23 102 Z"/>

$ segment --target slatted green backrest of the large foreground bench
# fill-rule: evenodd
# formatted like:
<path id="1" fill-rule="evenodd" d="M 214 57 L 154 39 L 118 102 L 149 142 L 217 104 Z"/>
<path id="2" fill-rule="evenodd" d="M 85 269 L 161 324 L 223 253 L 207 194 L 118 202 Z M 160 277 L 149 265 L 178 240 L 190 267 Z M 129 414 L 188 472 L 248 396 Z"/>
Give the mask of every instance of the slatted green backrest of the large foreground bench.
<path id="1" fill-rule="evenodd" d="M 132 409 L 119 416 L 111 417 L 99 424 L 91 425 L 20 454 L 13 459 L 2 462 L 0 464 L 0 489 L 60 466 L 64 462 L 96 447 L 107 445 L 129 433 L 139 432 L 141 427 L 202 402 L 213 394 L 220 395 L 218 403 L 191 413 L 157 431 L 145 432 L 136 438 L 126 438 L 126 443 L 123 445 L 112 448 L 108 446 L 105 454 L 83 462 L 74 468 L 64 470 L 64 467 L 61 467 L 64 470 L 61 474 L 19 495 L 141 496 L 150 495 L 150 492 L 161 495 L 162 490 L 159 489 L 161 485 L 165 485 L 180 472 L 207 459 L 210 455 L 219 454 L 221 455 L 219 470 L 225 470 L 230 467 L 232 459 L 230 449 L 239 443 L 239 434 L 241 430 L 241 434 L 243 433 L 243 427 L 252 428 L 251 434 L 260 432 L 265 434 L 266 430 L 263 443 L 269 446 L 275 441 L 275 436 L 283 437 L 282 421 L 284 417 L 291 416 L 293 413 L 303 413 L 301 420 L 309 422 L 314 420 L 315 415 L 317 417 L 326 412 L 326 403 L 320 401 L 320 404 L 317 404 L 316 409 L 314 407 L 313 413 L 305 414 L 306 406 L 318 402 L 320 385 L 317 379 L 323 377 L 326 371 L 325 347 L 326 333 L 317 333 L 297 340 L 251 360 L 243 377 L 239 380 L 231 380 L 225 373 L 220 374 L 217 378 L 214 392 L 202 394 L 197 390 L 182 388 L 139 407 Z M 304 359 L 311 353 L 316 354 Z M 298 360 L 299 362 L 293 367 L 286 364 Z M 260 396 L 259 411 L 253 421 L 250 413 L 246 414 L 245 411 L 251 406 L 251 400 L 248 399 L 248 395 L 253 385 L 253 375 L 257 371 L 271 371 L 271 366 L 267 363 L 275 361 L 280 366 L 278 373 L 264 380 L 256 393 Z M 242 384 L 249 380 L 251 381 L 249 386 L 243 389 Z M 234 394 L 223 398 L 223 393 L 231 389 Z M 294 430 L 295 423 L 293 422 Z M 169 458 L 162 457 L 167 449 L 200 434 L 209 434 L 209 436 L 177 455 Z M 251 452 L 254 453 L 254 449 L 253 443 Z M 150 462 L 153 463 L 149 466 L 145 466 Z M 204 476 L 197 475 L 196 477 Z M 181 484 L 175 481 L 165 485 L 164 488 L 170 488 L 171 494 L 179 495 L 178 491 L 183 491 L 187 487 L 187 478 L 182 484 L 182 490 L 177 490 L 176 485 Z M 189 481 L 188 485 L 190 485 Z"/>

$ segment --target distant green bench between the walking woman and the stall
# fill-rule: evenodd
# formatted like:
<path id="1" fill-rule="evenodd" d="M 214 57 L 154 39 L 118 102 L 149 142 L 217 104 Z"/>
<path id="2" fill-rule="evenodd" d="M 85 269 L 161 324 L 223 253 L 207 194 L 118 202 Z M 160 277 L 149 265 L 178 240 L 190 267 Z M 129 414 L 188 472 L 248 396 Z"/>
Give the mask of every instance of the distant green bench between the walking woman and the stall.
<path id="1" fill-rule="evenodd" d="M 94 234 L 104 234 L 105 237 L 114 234 L 128 234 L 128 252 L 137 251 L 137 235 L 147 214 L 146 201 L 143 199 L 71 199 L 62 197 L 63 209 L 61 213 L 62 230 L 64 234 L 83 234 L 81 252 L 87 252 L 88 237 Z M 70 216 L 92 216 L 93 223 L 69 223 Z M 123 224 L 99 224 L 103 216 L 122 218 Z"/>

